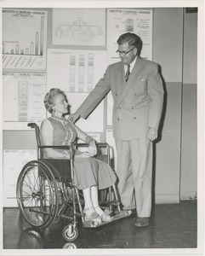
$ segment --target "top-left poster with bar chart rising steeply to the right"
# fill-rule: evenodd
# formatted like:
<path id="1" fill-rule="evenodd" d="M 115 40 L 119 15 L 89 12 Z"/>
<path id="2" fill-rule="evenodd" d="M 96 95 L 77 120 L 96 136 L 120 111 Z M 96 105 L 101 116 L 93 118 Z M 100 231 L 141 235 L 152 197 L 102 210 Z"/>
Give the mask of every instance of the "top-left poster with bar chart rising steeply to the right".
<path id="1" fill-rule="evenodd" d="M 47 12 L 3 9 L 3 68 L 46 68 Z"/>

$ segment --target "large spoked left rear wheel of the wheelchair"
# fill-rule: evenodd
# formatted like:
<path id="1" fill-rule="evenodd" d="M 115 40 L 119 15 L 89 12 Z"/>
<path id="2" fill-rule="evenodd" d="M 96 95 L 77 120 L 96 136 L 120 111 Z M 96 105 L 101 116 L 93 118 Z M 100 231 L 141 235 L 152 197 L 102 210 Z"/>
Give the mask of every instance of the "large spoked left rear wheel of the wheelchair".
<path id="1" fill-rule="evenodd" d="M 16 198 L 28 224 L 37 228 L 52 224 L 58 213 L 59 196 L 50 167 L 38 160 L 28 162 L 20 172 Z"/>

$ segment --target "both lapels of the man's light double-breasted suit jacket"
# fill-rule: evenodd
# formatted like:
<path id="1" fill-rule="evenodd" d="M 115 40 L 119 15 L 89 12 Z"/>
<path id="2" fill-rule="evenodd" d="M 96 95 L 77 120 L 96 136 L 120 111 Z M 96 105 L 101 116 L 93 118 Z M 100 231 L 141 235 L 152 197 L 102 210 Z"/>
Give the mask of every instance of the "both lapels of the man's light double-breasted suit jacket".
<path id="1" fill-rule="evenodd" d="M 134 86 L 134 81 L 140 75 L 140 67 L 141 67 L 140 62 L 141 62 L 140 61 L 140 57 L 138 56 L 137 60 L 136 60 L 136 62 L 134 64 L 134 68 L 133 68 L 132 72 L 129 75 L 127 83 L 126 83 L 125 78 L 124 78 L 124 67 L 123 67 L 123 64 L 122 64 L 122 70 L 123 70 L 122 71 L 122 75 L 123 75 L 123 78 L 122 78 L 123 86 L 122 87 L 123 88 L 122 88 L 122 93 L 121 93 L 121 97 L 120 97 L 120 100 L 119 100 L 119 104 L 122 102 L 124 97 L 128 94 L 128 91 L 131 90 L 131 88 Z"/>

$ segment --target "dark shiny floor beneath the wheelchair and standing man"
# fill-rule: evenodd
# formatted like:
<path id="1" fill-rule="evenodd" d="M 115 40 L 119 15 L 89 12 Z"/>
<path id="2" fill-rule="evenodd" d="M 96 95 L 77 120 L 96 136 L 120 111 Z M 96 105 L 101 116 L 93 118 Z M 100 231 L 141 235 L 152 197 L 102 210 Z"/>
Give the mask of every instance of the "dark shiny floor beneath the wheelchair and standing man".
<path id="1" fill-rule="evenodd" d="M 78 224 L 76 241 L 61 236 L 65 220 L 46 230 L 34 230 L 18 208 L 3 209 L 3 249 L 20 248 L 196 248 L 196 201 L 153 207 L 150 225 L 134 226 L 135 216 L 121 218 L 97 228 Z"/>

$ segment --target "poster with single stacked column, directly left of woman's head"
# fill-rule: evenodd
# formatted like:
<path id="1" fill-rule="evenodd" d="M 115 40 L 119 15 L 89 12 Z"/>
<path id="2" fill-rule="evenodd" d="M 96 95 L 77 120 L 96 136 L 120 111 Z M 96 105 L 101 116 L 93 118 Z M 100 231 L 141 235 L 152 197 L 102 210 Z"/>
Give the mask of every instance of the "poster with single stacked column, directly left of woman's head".
<path id="1" fill-rule="evenodd" d="M 3 130 L 27 130 L 46 118 L 45 73 L 3 73 Z"/>

